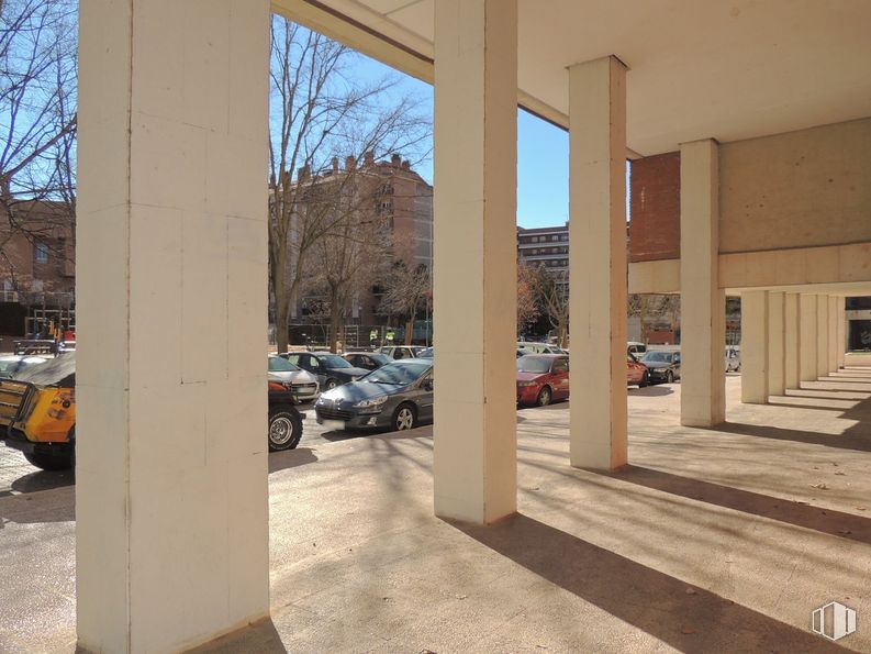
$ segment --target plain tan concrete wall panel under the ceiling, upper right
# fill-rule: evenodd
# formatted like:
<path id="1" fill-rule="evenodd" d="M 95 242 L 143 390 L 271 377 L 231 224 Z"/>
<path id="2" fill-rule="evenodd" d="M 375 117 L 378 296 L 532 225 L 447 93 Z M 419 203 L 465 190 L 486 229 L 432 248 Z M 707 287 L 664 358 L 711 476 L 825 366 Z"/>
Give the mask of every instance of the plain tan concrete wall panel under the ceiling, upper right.
<path id="1" fill-rule="evenodd" d="M 721 253 L 871 241 L 871 119 L 725 143 Z"/>

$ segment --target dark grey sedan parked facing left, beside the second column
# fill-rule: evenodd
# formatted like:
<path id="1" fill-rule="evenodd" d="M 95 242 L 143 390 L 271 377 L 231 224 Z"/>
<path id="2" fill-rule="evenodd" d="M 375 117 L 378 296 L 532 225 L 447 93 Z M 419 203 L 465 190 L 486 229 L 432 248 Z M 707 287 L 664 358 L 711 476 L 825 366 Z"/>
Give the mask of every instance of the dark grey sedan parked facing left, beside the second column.
<path id="1" fill-rule="evenodd" d="M 433 359 L 382 366 L 358 381 L 321 395 L 317 422 L 333 430 L 402 431 L 433 421 Z"/>

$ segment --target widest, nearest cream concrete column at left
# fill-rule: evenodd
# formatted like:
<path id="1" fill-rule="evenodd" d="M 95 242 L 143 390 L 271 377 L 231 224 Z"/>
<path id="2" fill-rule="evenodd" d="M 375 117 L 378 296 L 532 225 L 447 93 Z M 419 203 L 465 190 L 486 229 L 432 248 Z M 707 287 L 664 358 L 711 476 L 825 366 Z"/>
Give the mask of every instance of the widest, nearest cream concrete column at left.
<path id="1" fill-rule="evenodd" d="M 269 2 L 79 24 L 78 646 L 180 651 L 269 614 Z"/>

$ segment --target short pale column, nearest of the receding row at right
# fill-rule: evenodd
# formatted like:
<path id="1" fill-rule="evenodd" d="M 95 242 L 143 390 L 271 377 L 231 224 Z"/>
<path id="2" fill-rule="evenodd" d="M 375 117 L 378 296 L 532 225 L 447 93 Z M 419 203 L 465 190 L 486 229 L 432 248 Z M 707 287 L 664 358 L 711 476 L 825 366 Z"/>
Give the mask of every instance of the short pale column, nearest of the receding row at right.
<path id="1" fill-rule="evenodd" d="M 741 401 L 768 402 L 768 298 L 763 290 L 741 293 Z"/>

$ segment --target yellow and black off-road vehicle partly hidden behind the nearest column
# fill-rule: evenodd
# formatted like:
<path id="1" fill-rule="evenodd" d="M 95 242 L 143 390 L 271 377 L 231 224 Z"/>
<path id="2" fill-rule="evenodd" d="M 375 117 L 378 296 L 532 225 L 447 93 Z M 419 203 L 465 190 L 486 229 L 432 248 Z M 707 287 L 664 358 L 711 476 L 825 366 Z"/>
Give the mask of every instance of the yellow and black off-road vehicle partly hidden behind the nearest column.
<path id="1" fill-rule="evenodd" d="M 76 465 L 76 355 L 62 354 L 43 366 L 29 368 L 15 380 L 16 403 L 7 430 L 7 446 L 19 450 L 32 465 L 63 470 Z M 8 389 L 9 390 L 9 389 Z M 270 381 L 269 450 L 292 450 L 302 437 L 297 399 L 283 385 Z"/>

